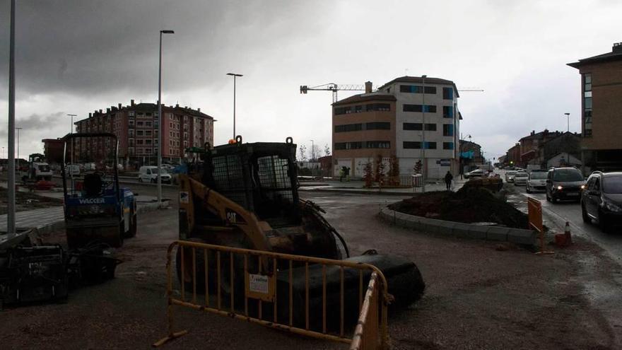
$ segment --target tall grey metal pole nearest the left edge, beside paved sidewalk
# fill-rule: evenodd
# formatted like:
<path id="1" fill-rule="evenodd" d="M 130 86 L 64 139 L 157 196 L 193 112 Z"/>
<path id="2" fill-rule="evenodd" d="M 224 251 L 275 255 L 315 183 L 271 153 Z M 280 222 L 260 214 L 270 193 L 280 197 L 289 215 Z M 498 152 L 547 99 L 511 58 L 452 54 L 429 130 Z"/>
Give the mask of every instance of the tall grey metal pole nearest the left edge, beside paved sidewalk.
<path id="1" fill-rule="evenodd" d="M 8 44 L 8 179 L 6 238 L 15 235 L 15 0 L 11 0 L 11 30 Z"/>

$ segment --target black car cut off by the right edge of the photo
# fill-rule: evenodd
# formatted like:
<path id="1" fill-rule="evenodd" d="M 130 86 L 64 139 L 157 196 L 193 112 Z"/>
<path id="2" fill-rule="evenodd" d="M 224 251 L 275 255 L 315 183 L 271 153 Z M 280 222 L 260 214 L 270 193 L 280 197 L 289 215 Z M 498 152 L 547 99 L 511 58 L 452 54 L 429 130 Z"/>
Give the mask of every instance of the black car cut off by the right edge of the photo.
<path id="1" fill-rule="evenodd" d="M 594 172 L 581 195 L 583 221 L 598 222 L 603 232 L 622 225 L 622 173 Z"/>

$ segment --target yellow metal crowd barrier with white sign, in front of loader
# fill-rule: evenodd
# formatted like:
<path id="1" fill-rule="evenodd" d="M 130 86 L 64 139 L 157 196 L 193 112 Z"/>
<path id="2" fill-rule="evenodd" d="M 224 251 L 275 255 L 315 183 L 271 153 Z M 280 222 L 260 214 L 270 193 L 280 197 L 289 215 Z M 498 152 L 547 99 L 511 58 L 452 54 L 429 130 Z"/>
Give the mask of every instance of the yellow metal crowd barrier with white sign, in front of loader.
<path id="1" fill-rule="evenodd" d="M 172 271 L 175 251 L 177 272 L 184 276 L 177 282 Z M 385 276 L 371 264 L 177 240 L 168 247 L 166 269 L 168 336 L 155 342 L 154 347 L 187 333 L 186 330 L 175 332 L 173 326 L 173 307 L 178 305 L 350 344 L 351 349 L 387 348 L 387 305 L 391 297 Z M 346 274 L 347 280 L 354 283 L 346 285 Z M 320 277 L 321 291 L 312 290 L 310 279 Z M 235 288 L 237 283 L 244 284 L 243 296 L 237 295 L 242 291 Z M 294 293 L 294 286 L 304 291 Z M 179 291 L 179 297 L 175 291 Z M 191 298 L 187 298 L 188 294 Z M 201 294 L 203 298 L 199 298 Z M 358 295 L 358 305 L 352 295 Z M 319 319 L 311 317 L 319 308 L 318 299 L 321 299 L 321 324 Z M 317 307 L 310 306 L 314 301 Z M 352 315 L 349 309 L 357 310 L 356 314 Z M 298 310 L 304 310 L 304 315 Z M 346 320 L 356 320 L 353 317 L 356 315 L 358 325 L 353 336 L 348 337 Z"/>

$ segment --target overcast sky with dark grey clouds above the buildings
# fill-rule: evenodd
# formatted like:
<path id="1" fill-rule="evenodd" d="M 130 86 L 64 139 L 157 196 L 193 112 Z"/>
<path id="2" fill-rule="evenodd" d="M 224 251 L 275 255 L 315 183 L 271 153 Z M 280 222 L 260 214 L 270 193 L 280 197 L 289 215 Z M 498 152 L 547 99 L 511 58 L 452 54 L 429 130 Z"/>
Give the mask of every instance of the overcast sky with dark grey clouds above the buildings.
<path id="1" fill-rule="evenodd" d="M 566 66 L 622 41 L 622 2 L 592 1 L 17 1 L 20 155 L 69 132 L 67 113 L 155 102 L 212 115 L 216 144 L 293 136 L 330 144 L 331 95 L 300 85 L 382 83 L 408 74 L 454 81 L 462 133 L 498 156 L 532 129 L 580 130 L 580 78 Z M 8 8 L 0 1 L 0 144 L 6 146 Z M 351 93 L 343 92 L 339 98 Z M 6 151 L 5 151 L 6 152 Z"/>

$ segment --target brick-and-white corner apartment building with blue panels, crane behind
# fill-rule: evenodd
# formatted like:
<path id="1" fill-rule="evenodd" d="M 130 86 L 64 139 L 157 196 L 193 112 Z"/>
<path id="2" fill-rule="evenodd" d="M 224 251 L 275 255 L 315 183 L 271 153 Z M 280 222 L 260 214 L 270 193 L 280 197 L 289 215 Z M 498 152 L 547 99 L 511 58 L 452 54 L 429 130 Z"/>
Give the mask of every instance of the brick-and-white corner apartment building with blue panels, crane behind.
<path id="1" fill-rule="evenodd" d="M 365 93 L 333 104 L 334 174 L 346 166 L 354 177 L 362 177 L 365 164 L 378 158 L 388 170 L 395 156 L 401 175 L 411 175 L 422 160 L 426 178 L 439 179 L 447 170 L 457 175 L 462 116 L 455 84 L 441 78 L 402 76 L 375 92 L 371 86 L 367 82 Z"/>

